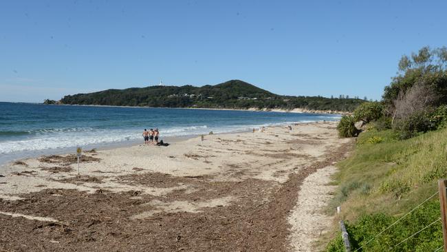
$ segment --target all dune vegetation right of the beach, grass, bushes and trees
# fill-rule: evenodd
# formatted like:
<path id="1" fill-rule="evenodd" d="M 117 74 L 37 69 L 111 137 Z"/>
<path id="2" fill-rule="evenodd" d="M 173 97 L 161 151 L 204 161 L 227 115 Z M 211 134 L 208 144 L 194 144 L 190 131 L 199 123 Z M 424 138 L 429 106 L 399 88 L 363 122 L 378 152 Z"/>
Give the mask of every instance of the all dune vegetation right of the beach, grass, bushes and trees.
<path id="1" fill-rule="evenodd" d="M 340 137 L 350 137 L 356 122 L 362 131 L 338 163 L 328 207 L 341 206 L 338 220 L 346 220 L 353 251 L 436 251 L 443 244 L 437 181 L 447 176 L 446 63 L 447 48 L 403 56 L 382 101 L 360 105 L 338 127 Z M 337 227 L 326 251 L 345 251 Z"/>

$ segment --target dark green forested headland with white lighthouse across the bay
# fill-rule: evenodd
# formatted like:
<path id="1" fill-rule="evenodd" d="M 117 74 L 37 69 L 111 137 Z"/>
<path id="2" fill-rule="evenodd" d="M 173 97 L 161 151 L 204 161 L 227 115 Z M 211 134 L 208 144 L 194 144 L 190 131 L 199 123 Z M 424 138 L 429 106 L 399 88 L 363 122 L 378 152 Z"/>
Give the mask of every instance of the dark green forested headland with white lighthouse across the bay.
<path id="1" fill-rule="evenodd" d="M 232 80 L 218 85 L 132 87 L 89 94 L 64 96 L 69 105 L 116 105 L 141 107 L 201 107 L 227 109 L 309 109 L 352 111 L 360 99 L 320 96 L 280 96 L 244 81 Z"/>

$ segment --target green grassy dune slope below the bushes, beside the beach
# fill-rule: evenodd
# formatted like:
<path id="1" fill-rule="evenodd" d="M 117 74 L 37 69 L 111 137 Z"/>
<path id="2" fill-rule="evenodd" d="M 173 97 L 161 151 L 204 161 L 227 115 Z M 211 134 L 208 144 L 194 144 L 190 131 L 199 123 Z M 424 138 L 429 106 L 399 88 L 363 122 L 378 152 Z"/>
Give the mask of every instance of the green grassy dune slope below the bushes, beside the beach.
<path id="1" fill-rule="evenodd" d="M 351 242 L 358 247 L 437 191 L 437 179 L 447 176 L 447 129 L 407 140 L 399 140 L 391 129 L 362 132 L 356 149 L 338 167 L 334 179 L 339 187 L 328 211 L 342 207 L 340 218 L 347 220 Z M 400 238 L 440 217 L 437 196 L 423 207 L 363 251 L 388 251 Z M 430 228 L 391 251 L 437 249 L 441 226 Z M 342 251 L 339 242 L 332 240 L 327 251 Z"/>

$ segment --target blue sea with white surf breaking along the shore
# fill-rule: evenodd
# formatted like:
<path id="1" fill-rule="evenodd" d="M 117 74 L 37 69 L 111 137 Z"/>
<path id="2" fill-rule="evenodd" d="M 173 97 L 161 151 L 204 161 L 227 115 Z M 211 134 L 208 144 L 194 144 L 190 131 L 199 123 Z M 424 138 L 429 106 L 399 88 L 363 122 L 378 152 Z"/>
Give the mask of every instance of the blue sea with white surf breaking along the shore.
<path id="1" fill-rule="evenodd" d="M 157 127 L 164 138 L 339 119 L 329 114 L 0 103 L 0 164 L 77 146 L 137 143 L 144 128 Z"/>

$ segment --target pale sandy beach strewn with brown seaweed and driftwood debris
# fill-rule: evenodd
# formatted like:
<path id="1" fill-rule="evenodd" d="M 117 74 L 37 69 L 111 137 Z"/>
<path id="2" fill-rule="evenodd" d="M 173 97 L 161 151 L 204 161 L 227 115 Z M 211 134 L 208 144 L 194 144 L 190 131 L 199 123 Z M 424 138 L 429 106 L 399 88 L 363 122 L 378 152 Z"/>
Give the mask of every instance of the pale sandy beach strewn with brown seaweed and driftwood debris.
<path id="1" fill-rule="evenodd" d="M 1 251 L 315 251 L 351 147 L 336 123 L 10 163 Z"/>

